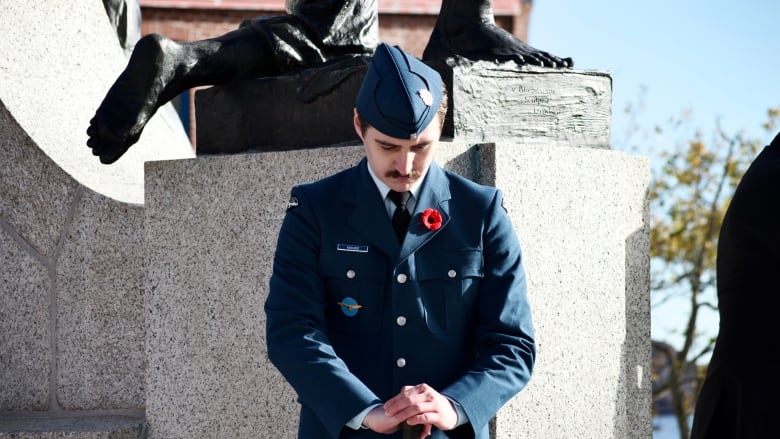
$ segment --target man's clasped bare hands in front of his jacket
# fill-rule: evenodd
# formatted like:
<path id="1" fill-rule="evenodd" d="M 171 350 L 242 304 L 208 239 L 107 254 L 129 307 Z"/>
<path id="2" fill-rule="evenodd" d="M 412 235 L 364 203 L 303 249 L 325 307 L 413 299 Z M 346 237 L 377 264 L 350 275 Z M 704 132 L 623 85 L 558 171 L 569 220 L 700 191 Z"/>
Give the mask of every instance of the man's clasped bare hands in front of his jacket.
<path id="1" fill-rule="evenodd" d="M 398 395 L 368 412 L 363 425 L 377 433 L 393 433 L 402 422 L 422 425 L 420 439 L 431 434 L 433 427 L 452 430 L 458 423 L 458 413 L 446 396 L 427 384 L 404 386 Z"/>

